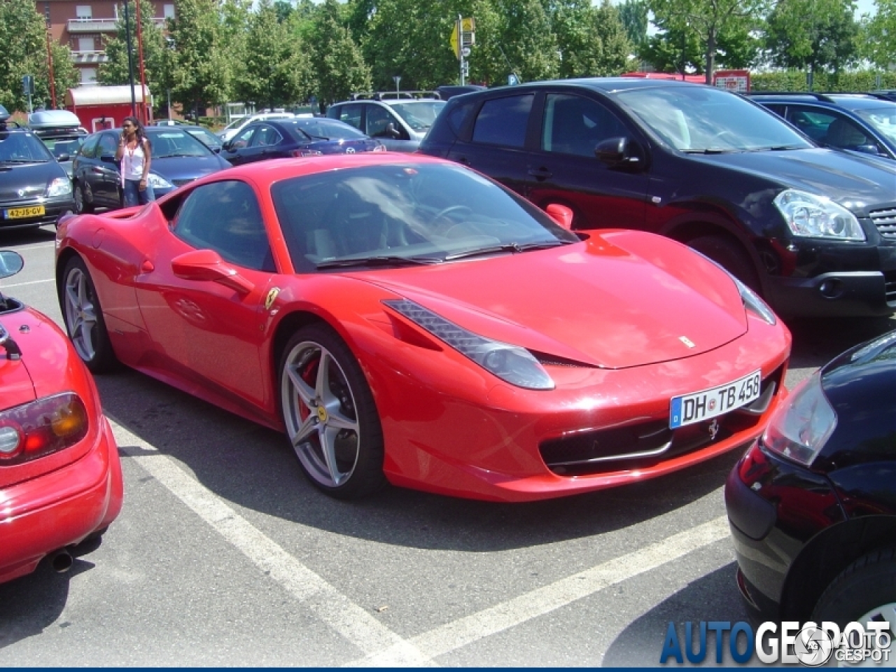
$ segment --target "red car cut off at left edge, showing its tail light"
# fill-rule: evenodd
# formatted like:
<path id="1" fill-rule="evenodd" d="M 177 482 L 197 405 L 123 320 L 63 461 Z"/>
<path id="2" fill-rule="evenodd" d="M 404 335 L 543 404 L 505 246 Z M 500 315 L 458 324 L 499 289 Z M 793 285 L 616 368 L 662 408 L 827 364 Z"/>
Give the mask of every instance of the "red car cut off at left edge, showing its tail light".
<path id="1" fill-rule="evenodd" d="M 0 252 L 0 278 L 22 257 Z M 121 463 L 90 372 L 52 320 L 0 294 L 0 582 L 72 564 L 121 510 Z"/>

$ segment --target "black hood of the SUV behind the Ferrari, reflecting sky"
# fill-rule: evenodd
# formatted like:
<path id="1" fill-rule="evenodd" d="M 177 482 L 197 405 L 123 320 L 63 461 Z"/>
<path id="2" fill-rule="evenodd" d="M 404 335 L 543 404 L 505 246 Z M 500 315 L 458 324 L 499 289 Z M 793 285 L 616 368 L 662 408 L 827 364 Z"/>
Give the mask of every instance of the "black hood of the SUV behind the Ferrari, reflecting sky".
<path id="1" fill-rule="evenodd" d="M 861 215 L 880 203 L 896 201 L 896 162 L 842 151 L 746 151 L 700 156 L 700 160 L 749 171 L 793 189 L 822 194 Z"/>

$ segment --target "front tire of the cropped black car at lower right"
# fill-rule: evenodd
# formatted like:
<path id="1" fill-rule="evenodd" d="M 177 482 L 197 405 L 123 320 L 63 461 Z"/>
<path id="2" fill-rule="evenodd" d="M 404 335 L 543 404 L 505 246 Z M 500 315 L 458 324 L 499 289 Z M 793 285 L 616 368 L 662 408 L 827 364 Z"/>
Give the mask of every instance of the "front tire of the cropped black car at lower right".
<path id="1" fill-rule="evenodd" d="M 892 633 L 896 630 L 896 547 L 862 556 L 843 570 L 815 603 L 812 620 L 843 627 L 883 609 L 889 612 L 883 616 Z"/>

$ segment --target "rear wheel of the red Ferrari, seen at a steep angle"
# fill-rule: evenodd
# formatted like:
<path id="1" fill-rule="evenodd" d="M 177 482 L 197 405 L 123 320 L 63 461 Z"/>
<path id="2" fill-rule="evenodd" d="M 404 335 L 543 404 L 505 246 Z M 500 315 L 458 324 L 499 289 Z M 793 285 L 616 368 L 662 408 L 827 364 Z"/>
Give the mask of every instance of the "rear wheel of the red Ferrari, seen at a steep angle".
<path id="1" fill-rule="evenodd" d="M 116 367 L 117 358 L 109 341 L 97 289 L 81 257 L 73 256 L 65 263 L 59 303 L 65 320 L 65 331 L 68 332 L 78 357 L 91 373 L 112 371 Z"/>

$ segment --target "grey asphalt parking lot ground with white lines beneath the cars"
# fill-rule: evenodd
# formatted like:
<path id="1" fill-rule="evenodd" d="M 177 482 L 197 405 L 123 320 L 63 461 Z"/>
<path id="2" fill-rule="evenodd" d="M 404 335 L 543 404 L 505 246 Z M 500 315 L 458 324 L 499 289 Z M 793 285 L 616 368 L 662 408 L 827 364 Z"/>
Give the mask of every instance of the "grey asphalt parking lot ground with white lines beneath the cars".
<path id="1" fill-rule="evenodd" d="M 53 231 L 0 246 L 26 263 L 0 290 L 61 323 Z M 790 385 L 896 321 L 792 327 Z M 745 619 L 737 454 L 537 504 L 339 502 L 282 435 L 134 371 L 97 383 L 125 508 L 69 573 L 0 584 L 0 667 L 655 666 L 669 621 Z"/>

